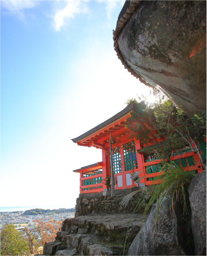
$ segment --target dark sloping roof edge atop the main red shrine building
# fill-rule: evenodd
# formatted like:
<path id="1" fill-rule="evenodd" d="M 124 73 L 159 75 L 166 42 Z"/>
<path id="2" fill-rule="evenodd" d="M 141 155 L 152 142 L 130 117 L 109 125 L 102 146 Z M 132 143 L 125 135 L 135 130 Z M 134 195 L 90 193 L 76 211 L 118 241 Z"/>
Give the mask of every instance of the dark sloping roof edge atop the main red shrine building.
<path id="1" fill-rule="evenodd" d="M 105 122 L 101 123 L 98 126 L 95 126 L 93 129 L 87 131 L 86 133 L 83 133 L 82 135 L 80 135 L 77 138 L 72 138 L 73 142 L 78 142 L 80 140 L 83 140 L 84 138 L 90 136 L 91 134 L 96 133 L 97 131 L 103 129 L 104 127 L 110 125 L 113 122 L 116 122 L 116 120 L 119 120 L 121 117 L 127 115 L 128 113 L 130 113 L 131 111 L 135 111 L 135 112 L 140 112 L 140 109 L 138 108 L 138 106 L 136 105 L 136 103 L 134 101 L 132 101 L 127 107 L 125 107 L 122 111 L 120 111 L 119 113 L 117 113 L 116 115 L 112 116 L 112 118 L 109 118 L 108 120 L 106 120 Z"/>

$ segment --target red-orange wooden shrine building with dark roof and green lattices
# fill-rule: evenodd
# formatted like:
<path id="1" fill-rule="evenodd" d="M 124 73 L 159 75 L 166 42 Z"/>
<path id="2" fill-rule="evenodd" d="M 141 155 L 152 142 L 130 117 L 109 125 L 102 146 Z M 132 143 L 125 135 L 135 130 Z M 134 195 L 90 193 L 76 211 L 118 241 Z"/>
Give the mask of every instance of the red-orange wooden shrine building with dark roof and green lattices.
<path id="1" fill-rule="evenodd" d="M 80 135 L 73 138 L 72 141 L 83 147 L 95 147 L 102 150 L 102 162 L 94 163 L 89 166 L 84 166 L 80 169 L 74 170 L 80 173 L 80 193 L 95 193 L 103 192 L 109 189 L 110 184 L 110 159 L 109 159 L 109 140 L 113 138 L 116 144 L 112 145 L 112 159 L 113 170 L 115 178 L 115 189 L 127 189 L 132 186 L 150 185 L 153 182 L 158 171 L 161 170 L 161 159 L 154 159 L 150 150 L 142 152 L 145 147 L 139 143 L 139 140 L 132 139 L 130 136 L 133 133 L 128 128 L 128 123 L 131 122 L 128 118 L 131 117 L 132 112 L 142 111 L 138 108 L 134 101 L 132 101 L 122 111 L 112 116 L 105 122 Z M 153 122 L 151 127 L 146 124 L 145 119 L 139 119 L 143 130 L 151 130 L 149 133 L 151 145 L 156 145 L 162 140 L 158 138 L 158 132 L 153 129 Z M 200 145 L 204 149 L 202 152 L 206 154 L 205 140 L 201 141 Z M 171 160 L 184 170 L 196 170 L 201 173 L 202 165 L 199 156 L 194 151 L 187 151 L 181 155 L 172 155 Z M 141 183 L 135 184 L 132 180 L 132 175 L 138 173 L 139 177 L 145 177 Z M 109 181 L 107 183 L 106 181 Z"/>

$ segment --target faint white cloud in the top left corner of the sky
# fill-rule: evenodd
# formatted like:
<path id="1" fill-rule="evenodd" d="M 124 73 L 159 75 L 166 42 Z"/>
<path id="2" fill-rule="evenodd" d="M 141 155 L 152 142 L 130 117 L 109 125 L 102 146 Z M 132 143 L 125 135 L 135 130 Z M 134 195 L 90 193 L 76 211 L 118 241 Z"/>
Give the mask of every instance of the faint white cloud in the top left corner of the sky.
<path id="1" fill-rule="evenodd" d="M 19 13 L 23 9 L 32 8 L 39 0 L 0 0 L 0 7 L 9 12 Z"/>

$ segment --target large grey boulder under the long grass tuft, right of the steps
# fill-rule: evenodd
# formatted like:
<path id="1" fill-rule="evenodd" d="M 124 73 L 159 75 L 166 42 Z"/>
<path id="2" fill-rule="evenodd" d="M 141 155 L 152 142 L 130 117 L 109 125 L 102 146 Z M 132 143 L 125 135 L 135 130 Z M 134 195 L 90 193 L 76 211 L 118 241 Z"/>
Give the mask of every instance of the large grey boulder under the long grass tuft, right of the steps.
<path id="1" fill-rule="evenodd" d="M 150 211 L 149 218 L 133 240 L 128 256 L 193 256 L 194 247 L 190 240 L 186 222 L 183 219 L 182 205 L 164 199 L 158 211 L 157 204 Z M 156 224 L 156 226 L 155 226 Z"/>

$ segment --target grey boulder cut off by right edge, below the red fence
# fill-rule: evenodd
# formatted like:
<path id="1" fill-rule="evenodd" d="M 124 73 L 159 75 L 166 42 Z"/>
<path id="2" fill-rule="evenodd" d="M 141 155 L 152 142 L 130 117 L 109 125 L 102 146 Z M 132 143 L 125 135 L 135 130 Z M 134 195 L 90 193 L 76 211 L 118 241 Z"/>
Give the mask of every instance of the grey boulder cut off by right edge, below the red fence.
<path id="1" fill-rule="evenodd" d="M 196 175 L 188 188 L 195 255 L 205 254 L 207 247 L 207 170 Z"/>

